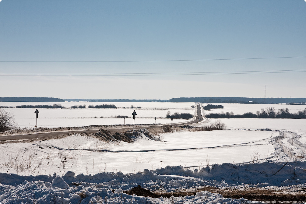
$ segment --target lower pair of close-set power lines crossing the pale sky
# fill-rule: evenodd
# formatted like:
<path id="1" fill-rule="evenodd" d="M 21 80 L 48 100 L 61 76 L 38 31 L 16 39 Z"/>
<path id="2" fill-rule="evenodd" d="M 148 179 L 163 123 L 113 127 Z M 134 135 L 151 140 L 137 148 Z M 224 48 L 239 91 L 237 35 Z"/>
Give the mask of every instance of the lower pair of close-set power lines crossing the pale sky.
<path id="1" fill-rule="evenodd" d="M 161 72 L 161 73 L 99 73 L 99 74 L 0 74 L 0 76 L 181 76 L 181 75 L 225 75 L 225 74 L 268 74 L 306 72 L 306 69 L 233 72 Z"/>

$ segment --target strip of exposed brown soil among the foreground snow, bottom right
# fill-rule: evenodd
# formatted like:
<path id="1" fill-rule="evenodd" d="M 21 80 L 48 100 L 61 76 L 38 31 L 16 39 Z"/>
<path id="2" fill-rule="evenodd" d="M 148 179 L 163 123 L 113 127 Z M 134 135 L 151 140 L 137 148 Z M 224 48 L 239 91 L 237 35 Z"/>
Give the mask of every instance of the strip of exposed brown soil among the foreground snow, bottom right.
<path id="1" fill-rule="evenodd" d="M 186 195 L 196 195 L 196 192 L 200 191 L 209 191 L 212 193 L 221 194 L 225 198 L 244 198 L 252 201 L 290 201 L 290 202 L 305 202 L 306 201 L 306 194 L 288 194 L 282 193 L 280 191 L 270 191 L 270 190 L 263 190 L 263 189 L 254 189 L 254 190 L 229 190 L 229 189 L 219 189 L 211 186 L 198 188 L 192 191 L 183 191 L 183 192 L 151 192 L 147 189 L 142 188 L 140 185 L 137 187 L 132 188 L 129 191 L 123 191 L 129 195 L 138 195 L 138 196 L 148 196 L 152 198 L 170 198 L 171 196 L 178 197 L 178 196 L 186 196 Z M 276 193 L 275 193 L 276 192 Z M 304 192 L 301 189 L 301 193 Z M 277 202 L 275 202 L 277 203 Z"/>

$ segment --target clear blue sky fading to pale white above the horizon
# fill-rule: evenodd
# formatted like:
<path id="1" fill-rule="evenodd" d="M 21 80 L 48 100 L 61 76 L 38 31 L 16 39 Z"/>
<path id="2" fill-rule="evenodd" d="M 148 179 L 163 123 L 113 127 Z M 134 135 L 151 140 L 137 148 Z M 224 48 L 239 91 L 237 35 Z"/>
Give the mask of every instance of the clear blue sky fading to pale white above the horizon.
<path id="1" fill-rule="evenodd" d="M 304 0 L 2 0 L 0 97 L 306 98 L 305 37 Z"/>

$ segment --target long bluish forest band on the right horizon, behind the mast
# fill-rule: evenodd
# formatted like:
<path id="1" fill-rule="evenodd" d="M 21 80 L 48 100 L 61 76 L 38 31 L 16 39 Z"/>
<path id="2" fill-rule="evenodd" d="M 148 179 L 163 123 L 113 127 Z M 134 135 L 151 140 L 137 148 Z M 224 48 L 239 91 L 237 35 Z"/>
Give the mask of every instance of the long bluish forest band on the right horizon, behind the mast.
<path id="1" fill-rule="evenodd" d="M 196 97 L 171 98 L 169 102 L 200 102 L 200 103 L 305 103 L 306 98 L 243 98 L 243 97 Z"/>

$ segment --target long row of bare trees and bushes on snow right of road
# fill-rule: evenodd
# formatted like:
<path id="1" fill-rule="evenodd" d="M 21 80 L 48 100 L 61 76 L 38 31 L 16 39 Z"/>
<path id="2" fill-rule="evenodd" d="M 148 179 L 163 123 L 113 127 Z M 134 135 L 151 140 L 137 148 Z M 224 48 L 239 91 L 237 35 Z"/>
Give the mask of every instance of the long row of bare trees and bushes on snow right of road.
<path id="1" fill-rule="evenodd" d="M 306 108 L 304 110 L 298 111 L 297 113 L 289 113 L 288 108 L 281 108 L 277 111 L 275 108 L 265 108 L 261 109 L 261 111 L 256 111 L 256 114 L 252 112 L 244 113 L 243 115 L 234 115 L 233 112 L 226 113 L 209 113 L 205 115 L 205 117 L 209 118 L 293 118 L 293 119 L 301 119 L 306 118 Z"/>

